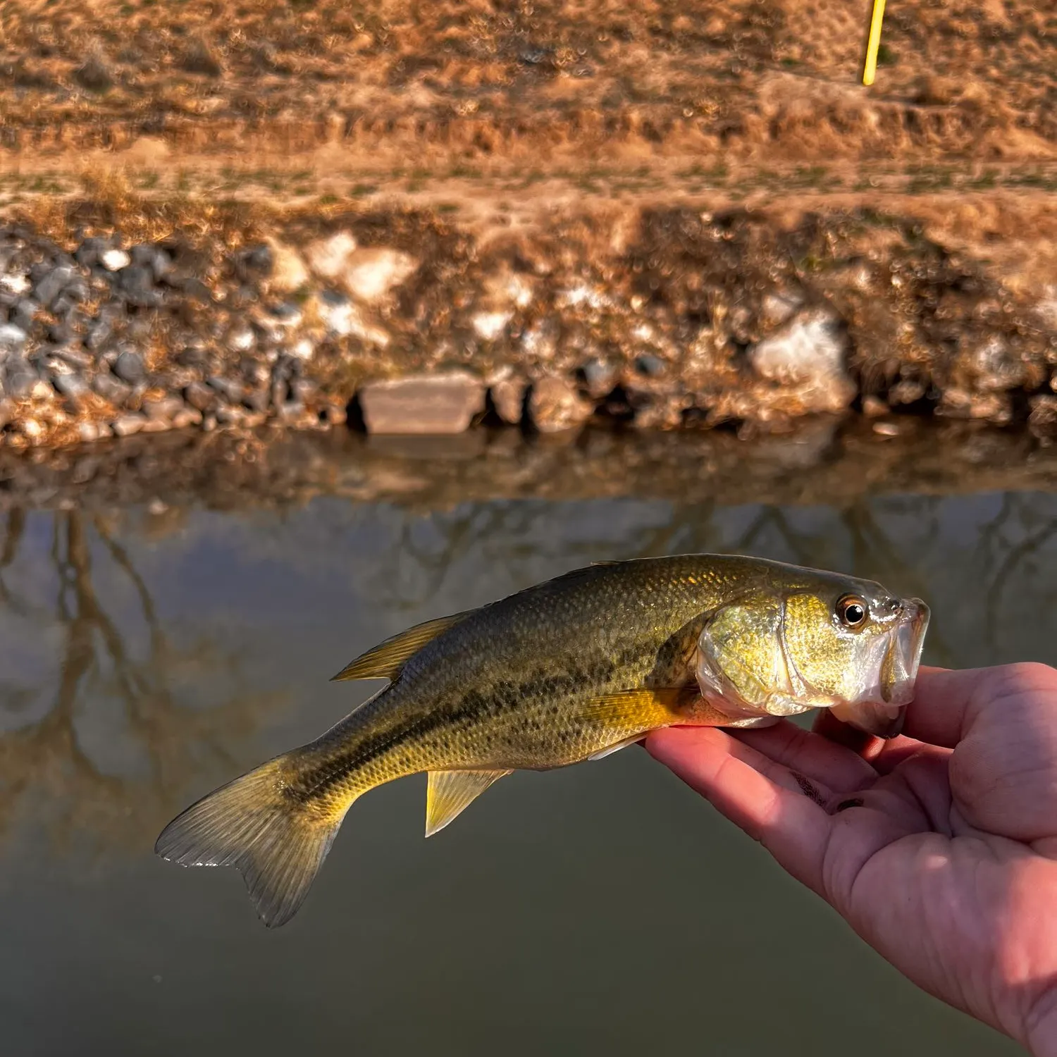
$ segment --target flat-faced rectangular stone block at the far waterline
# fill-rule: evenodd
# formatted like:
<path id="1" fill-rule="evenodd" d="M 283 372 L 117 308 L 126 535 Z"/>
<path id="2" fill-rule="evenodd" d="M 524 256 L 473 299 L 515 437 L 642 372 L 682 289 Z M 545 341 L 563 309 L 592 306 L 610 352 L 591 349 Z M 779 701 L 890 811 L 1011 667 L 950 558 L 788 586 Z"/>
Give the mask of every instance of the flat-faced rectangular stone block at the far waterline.
<path id="1" fill-rule="evenodd" d="M 372 433 L 461 433 L 484 409 L 484 386 L 465 371 L 370 382 L 359 393 Z"/>

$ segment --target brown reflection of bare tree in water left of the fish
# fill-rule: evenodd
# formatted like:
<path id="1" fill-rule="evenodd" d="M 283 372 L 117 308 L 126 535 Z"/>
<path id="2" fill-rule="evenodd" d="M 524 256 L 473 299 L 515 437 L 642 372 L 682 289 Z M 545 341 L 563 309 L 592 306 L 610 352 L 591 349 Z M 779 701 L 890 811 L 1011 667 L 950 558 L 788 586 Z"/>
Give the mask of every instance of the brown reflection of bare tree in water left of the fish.
<path id="1" fill-rule="evenodd" d="M 101 518 L 70 511 L 51 515 L 49 560 L 57 581 L 51 605 L 20 595 L 6 573 L 18 561 L 25 537 L 22 511 L 7 514 L 0 548 L 0 602 L 33 622 L 43 635 L 60 629 L 54 679 L 37 689 L 6 689 L 6 711 L 39 716 L 0 736 L 0 832 L 19 819 L 43 821 L 55 841 L 97 833 L 107 846 L 142 843 L 156 824 L 173 789 L 215 764 L 230 773 L 238 745 L 266 715 L 276 697 L 242 689 L 240 660 L 208 639 L 177 648 L 166 634 L 151 592 L 122 543 Z M 127 578 L 137 599 L 131 620 L 123 622 L 115 604 L 96 588 L 97 546 Z M 29 592 L 26 592 L 29 594 Z M 128 647 L 145 628 L 148 648 L 137 656 Z M 190 665 L 202 682 L 219 680 L 236 687 L 222 707 L 198 709 L 178 702 L 177 671 Z M 34 700 L 47 696 L 45 701 Z M 82 722 L 100 702 L 120 706 L 124 733 L 146 767 L 133 775 L 113 774 L 85 746 Z M 120 769 L 120 768 L 118 768 Z"/>

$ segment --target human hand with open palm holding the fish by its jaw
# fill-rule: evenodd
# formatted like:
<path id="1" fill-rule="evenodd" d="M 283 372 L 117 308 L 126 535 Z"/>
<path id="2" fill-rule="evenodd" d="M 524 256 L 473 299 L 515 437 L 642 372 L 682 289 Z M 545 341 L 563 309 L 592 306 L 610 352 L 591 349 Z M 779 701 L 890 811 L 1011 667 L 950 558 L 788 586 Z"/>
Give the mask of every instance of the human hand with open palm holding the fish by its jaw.
<path id="1" fill-rule="evenodd" d="M 1057 1055 L 1057 670 L 923 668 L 887 742 L 822 712 L 646 748 L 919 986 Z"/>

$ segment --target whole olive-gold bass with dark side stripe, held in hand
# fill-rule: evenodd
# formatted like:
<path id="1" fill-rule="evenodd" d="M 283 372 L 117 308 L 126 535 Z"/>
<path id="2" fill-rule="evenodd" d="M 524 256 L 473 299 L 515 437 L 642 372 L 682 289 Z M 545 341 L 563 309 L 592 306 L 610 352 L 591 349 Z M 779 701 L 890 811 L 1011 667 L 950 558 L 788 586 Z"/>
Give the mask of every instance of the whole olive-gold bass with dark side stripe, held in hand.
<path id="1" fill-rule="evenodd" d="M 337 681 L 387 685 L 328 731 L 191 804 L 155 851 L 233 866 L 270 927 L 301 906 L 346 813 L 426 772 L 426 836 L 496 781 L 599 760 L 666 726 L 830 709 L 894 737 L 929 609 L 882 585 L 741 555 L 595 562 L 427 620 Z"/>

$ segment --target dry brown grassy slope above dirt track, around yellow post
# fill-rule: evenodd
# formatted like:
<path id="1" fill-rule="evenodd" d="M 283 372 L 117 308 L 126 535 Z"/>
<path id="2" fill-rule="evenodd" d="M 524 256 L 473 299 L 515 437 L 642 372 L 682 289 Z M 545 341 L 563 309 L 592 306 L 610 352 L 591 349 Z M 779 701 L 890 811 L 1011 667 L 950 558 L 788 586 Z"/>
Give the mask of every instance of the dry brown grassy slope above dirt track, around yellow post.
<path id="1" fill-rule="evenodd" d="M 599 156 L 1057 156 L 1052 5 L 900 4 L 869 90 L 857 82 L 866 8 L 7 0 L 0 148 L 22 165 L 134 147 L 131 160 L 145 150 L 155 167 L 302 155 L 313 171 Z"/>

